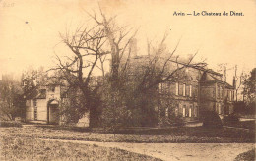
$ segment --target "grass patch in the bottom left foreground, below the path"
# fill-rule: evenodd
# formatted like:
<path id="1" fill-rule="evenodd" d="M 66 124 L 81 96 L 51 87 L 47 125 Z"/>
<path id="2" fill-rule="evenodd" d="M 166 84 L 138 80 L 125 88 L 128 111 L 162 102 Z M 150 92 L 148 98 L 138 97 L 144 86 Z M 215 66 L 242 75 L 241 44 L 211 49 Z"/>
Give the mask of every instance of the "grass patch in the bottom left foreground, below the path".
<path id="1" fill-rule="evenodd" d="M 117 148 L 41 140 L 1 137 L 0 160 L 160 160 Z"/>

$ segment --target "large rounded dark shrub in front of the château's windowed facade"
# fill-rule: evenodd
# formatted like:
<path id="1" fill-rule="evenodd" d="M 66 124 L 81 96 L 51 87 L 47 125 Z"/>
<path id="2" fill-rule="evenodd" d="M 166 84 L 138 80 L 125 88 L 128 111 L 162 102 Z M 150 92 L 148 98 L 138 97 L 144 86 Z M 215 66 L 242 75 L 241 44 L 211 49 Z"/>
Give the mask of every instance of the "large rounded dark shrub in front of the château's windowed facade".
<path id="1" fill-rule="evenodd" d="M 223 123 L 219 115 L 214 111 L 201 112 L 203 127 L 222 127 Z"/>

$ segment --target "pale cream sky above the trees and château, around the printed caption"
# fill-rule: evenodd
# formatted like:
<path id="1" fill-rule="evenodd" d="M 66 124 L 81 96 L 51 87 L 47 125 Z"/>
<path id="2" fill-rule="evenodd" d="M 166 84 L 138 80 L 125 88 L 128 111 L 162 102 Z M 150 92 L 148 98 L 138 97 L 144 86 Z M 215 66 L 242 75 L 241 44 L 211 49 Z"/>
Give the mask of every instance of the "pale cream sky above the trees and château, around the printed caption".
<path id="1" fill-rule="evenodd" d="M 87 24 L 87 12 L 98 5 L 107 16 L 117 15 L 121 26 L 138 28 L 138 53 L 146 52 L 147 39 L 172 50 L 180 40 L 177 55 L 198 51 L 196 60 L 205 60 L 217 69 L 226 63 L 228 77 L 250 71 L 256 65 L 255 0 L 0 0 L 0 75 L 20 74 L 28 68 L 52 67 L 55 54 L 63 55 L 59 33 L 66 27 Z M 193 16 L 193 12 L 236 13 L 243 16 Z M 174 12 L 185 16 L 174 16 Z"/>

